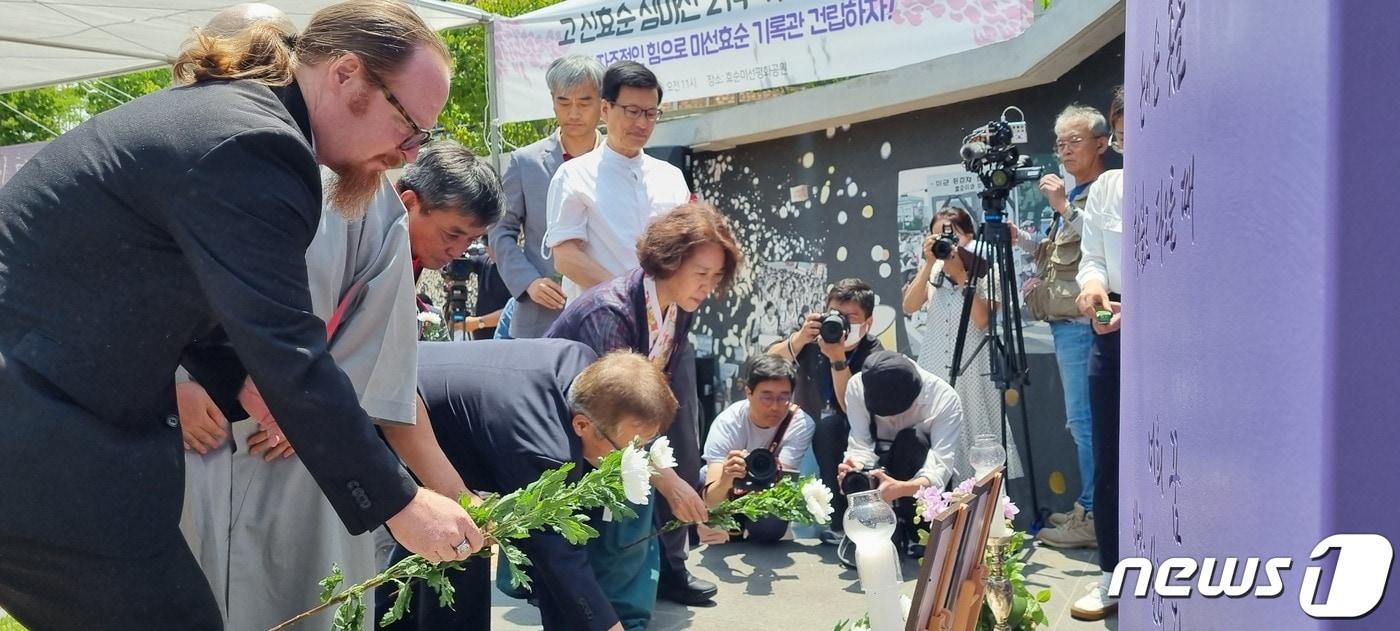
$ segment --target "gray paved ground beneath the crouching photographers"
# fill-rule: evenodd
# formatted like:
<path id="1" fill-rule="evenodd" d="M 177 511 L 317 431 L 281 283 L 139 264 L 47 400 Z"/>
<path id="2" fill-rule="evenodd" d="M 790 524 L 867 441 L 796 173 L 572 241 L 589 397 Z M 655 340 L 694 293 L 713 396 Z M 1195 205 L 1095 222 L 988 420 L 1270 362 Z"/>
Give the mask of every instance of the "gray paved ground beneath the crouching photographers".
<path id="1" fill-rule="evenodd" d="M 855 572 L 836 562 L 836 547 L 815 539 L 780 546 L 731 543 L 700 547 L 692 553 L 692 571 L 720 585 L 717 604 L 682 607 L 659 603 L 651 631 L 672 630 L 795 630 L 826 631 L 837 621 L 865 611 Z M 1092 550 L 1030 548 L 1026 557 L 1032 592 L 1051 589 L 1046 604 L 1051 630 L 1117 630 L 1117 621 L 1081 623 L 1070 617 L 1070 603 L 1079 597 L 1098 567 Z M 913 593 L 918 568 L 906 562 L 904 593 Z M 493 603 L 493 631 L 539 628 L 536 610 L 500 593 Z"/>

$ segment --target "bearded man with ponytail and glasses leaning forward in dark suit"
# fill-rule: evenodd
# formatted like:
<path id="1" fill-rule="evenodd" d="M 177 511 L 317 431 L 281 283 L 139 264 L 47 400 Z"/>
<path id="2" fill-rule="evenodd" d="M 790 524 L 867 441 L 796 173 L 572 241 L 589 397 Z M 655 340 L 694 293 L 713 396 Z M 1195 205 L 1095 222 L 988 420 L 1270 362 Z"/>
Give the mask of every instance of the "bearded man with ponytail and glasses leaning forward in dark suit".
<path id="1" fill-rule="evenodd" d="M 176 74 L 0 189 L 0 607 L 35 631 L 220 628 L 178 529 L 176 365 L 225 416 L 274 414 L 350 532 L 388 523 L 430 560 L 480 547 L 374 434 L 307 290 L 318 162 L 330 206 L 363 213 L 431 137 L 441 41 L 354 0 L 297 38 L 196 34 Z"/>

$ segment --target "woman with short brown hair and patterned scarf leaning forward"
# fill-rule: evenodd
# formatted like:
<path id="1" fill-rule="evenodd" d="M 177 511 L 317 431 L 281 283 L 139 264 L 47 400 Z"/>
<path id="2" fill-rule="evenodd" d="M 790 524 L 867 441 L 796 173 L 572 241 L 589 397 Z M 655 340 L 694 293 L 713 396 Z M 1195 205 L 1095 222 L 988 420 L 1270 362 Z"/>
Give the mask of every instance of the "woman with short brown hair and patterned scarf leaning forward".
<path id="1" fill-rule="evenodd" d="M 637 256 L 641 267 L 585 291 L 564 306 L 545 337 L 582 341 L 599 355 L 617 348 L 633 350 L 666 372 L 671 390 L 680 402 L 676 418 L 666 431 L 678 465 L 652 478 L 666 498 L 664 505 L 657 506 L 657 520 L 676 516 L 701 522 L 708 511 L 696 491 L 701 466 L 700 427 L 694 417 L 699 407 L 694 348 L 687 333 L 700 304 L 715 290 L 725 290 L 734 283 L 743 264 L 743 253 L 720 211 L 710 204 L 689 203 L 651 221 L 637 242 Z M 630 526 L 638 529 L 638 539 L 652 529 L 651 523 Z M 668 534 L 685 537 L 686 530 Z M 603 589 L 620 613 L 631 611 L 623 616 L 627 630 L 645 628 L 658 586 L 668 600 L 686 604 L 714 597 L 714 585 L 694 579 L 686 571 L 683 539 L 665 547 L 669 551 L 665 558 L 658 558 L 659 554 L 643 558 L 645 547 L 619 548 L 595 557 L 606 560 L 609 576 L 626 576 L 605 582 Z M 659 579 L 652 572 L 658 564 Z"/>

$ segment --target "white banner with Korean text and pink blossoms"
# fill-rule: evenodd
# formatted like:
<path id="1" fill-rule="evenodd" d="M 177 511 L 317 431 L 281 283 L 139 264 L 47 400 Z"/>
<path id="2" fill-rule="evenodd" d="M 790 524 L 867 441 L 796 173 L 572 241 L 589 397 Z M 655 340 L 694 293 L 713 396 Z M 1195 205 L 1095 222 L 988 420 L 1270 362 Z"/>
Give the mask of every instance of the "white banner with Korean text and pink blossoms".
<path id="1" fill-rule="evenodd" d="M 553 116 L 545 70 L 564 55 L 640 62 L 665 101 L 823 81 L 1002 42 L 1033 0 L 568 0 L 496 22 L 501 122 Z"/>

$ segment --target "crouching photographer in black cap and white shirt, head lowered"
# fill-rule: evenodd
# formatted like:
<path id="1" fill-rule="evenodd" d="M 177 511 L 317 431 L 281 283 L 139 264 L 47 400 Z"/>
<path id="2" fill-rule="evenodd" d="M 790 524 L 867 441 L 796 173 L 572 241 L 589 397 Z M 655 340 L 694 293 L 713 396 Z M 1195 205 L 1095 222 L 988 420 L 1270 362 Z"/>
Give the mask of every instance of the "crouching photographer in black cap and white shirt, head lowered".
<path id="1" fill-rule="evenodd" d="M 913 495 L 924 487 L 945 488 L 953 474 L 963 423 L 958 392 L 910 358 L 878 351 L 851 378 L 846 404 L 851 437 L 837 467 L 841 495 L 878 488 L 895 505 L 895 547 L 918 558 Z M 850 539 L 841 539 L 836 554 L 855 567 Z"/>

